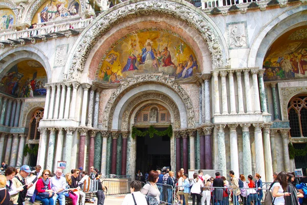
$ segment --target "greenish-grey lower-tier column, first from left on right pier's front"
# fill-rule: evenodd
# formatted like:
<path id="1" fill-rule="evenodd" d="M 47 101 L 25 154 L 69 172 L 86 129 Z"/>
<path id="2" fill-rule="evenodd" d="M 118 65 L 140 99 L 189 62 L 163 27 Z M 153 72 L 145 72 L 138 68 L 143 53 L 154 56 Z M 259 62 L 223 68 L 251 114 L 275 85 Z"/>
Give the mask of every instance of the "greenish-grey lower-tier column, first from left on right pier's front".
<path id="1" fill-rule="evenodd" d="M 226 170 L 226 147 L 225 147 L 225 125 L 215 126 L 217 129 L 217 148 L 218 148 L 218 169 L 222 170 L 222 175 L 227 175 Z"/>

